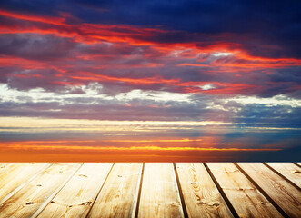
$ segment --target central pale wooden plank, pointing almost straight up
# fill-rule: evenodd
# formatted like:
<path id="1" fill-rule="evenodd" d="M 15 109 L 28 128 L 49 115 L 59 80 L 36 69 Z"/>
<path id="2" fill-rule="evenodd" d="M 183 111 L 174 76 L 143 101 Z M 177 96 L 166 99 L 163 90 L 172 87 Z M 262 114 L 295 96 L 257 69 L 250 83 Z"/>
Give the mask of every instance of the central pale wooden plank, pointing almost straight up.
<path id="1" fill-rule="evenodd" d="M 173 163 L 145 163 L 139 217 L 184 217 Z"/>

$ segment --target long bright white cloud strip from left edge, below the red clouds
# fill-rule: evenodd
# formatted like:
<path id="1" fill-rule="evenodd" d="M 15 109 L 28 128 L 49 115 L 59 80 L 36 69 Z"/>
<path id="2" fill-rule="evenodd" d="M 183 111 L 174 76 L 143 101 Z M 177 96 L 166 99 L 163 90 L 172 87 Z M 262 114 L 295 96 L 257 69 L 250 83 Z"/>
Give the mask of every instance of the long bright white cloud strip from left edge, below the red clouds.
<path id="1" fill-rule="evenodd" d="M 190 97 L 192 94 L 176 94 L 163 91 L 143 91 L 140 89 L 132 90 L 128 93 L 121 93 L 115 96 L 109 96 L 106 94 L 99 94 L 102 90 L 102 85 L 98 83 L 91 83 L 88 85 L 71 87 L 70 91 L 75 89 L 81 89 L 84 91 L 83 94 L 69 94 L 65 93 L 53 93 L 45 91 L 43 88 L 35 88 L 28 91 L 19 91 L 11 89 L 7 84 L 0 84 L 0 97 L 3 102 L 15 102 L 15 103 L 50 103 L 59 102 L 60 104 L 74 103 L 73 99 L 89 99 L 89 103 L 95 104 L 99 100 L 115 101 L 117 100 L 121 104 L 125 104 L 134 99 L 140 100 L 152 100 L 155 102 L 191 102 Z M 93 99 L 95 101 L 93 101 Z"/>

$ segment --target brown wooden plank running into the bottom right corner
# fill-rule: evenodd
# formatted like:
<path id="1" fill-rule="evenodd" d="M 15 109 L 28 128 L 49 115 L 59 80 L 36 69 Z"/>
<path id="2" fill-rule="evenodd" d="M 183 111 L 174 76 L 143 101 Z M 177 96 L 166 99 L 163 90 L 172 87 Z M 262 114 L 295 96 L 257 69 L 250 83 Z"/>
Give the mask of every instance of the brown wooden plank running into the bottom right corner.
<path id="1" fill-rule="evenodd" d="M 263 163 L 237 163 L 289 217 L 301 215 L 301 193 Z"/>

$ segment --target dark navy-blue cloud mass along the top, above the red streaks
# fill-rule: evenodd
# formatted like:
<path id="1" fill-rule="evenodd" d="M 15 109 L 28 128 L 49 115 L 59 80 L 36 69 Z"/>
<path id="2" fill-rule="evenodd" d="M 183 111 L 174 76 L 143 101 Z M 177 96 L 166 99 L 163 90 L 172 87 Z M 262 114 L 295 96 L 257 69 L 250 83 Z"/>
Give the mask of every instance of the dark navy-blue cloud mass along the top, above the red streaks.
<path id="1" fill-rule="evenodd" d="M 162 26 L 177 31 L 154 37 L 162 43 L 188 42 L 200 37 L 194 34 L 232 33 L 235 37 L 230 38 L 241 41 L 250 54 L 301 57 L 301 3 L 296 0 L 2 1 L 1 6 L 32 15 L 57 16 L 67 12 L 85 23 Z M 239 40 L 241 35 L 248 37 Z"/>

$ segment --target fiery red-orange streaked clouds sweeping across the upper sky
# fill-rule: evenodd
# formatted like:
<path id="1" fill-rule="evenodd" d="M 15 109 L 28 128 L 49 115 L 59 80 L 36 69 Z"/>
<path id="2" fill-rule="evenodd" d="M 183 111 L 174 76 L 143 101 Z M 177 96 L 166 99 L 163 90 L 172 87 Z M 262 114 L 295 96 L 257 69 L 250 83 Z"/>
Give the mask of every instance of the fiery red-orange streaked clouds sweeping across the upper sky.
<path id="1" fill-rule="evenodd" d="M 156 36 L 175 34 L 175 31 L 166 31 L 158 28 L 142 28 L 133 25 L 102 25 L 102 24 L 67 24 L 64 17 L 47 17 L 37 15 L 23 15 L 5 10 L 0 10 L 0 15 L 22 21 L 15 25 L 0 25 L 2 34 L 24 34 L 35 33 L 39 35 L 56 35 L 67 37 L 75 42 L 87 46 L 94 46 L 95 43 L 110 42 L 114 45 L 129 46 L 140 49 L 141 46 L 149 47 L 144 54 L 139 54 L 142 60 L 132 63 L 133 54 L 93 54 L 93 53 L 72 53 L 73 56 L 61 57 L 58 61 L 27 60 L 11 55 L 0 57 L 2 66 L 17 66 L 22 69 L 55 69 L 53 84 L 80 85 L 88 84 L 91 81 L 128 84 L 135 88 L 136 85 L 161 85 L 166 90 L 180 93 L 202 93 L 202 94 L 249 94 L 256 90 L 264 90 L 262 85 L 244 82 L 243 78 L 236 82 L 222 82 L 216 80 L 186 81 L 175 75 L 172 78 L 165 78 L 160 70 L 156 68 L 171 65 L 177 68 L 195 67 L 202 69 L 206 74 L 236 74 L 236 78 L 247 72 L 255 70 L 273 70 L 285 67 L 293 67 L 301 64 L 296 58 L 266 58 L 247 54 L 243 46 L 238 43 L 225 42 L 220 37 L 206 36 L 209 42 L 160 42 Z M 24 23 L 25 22 L 25 23 Z M 188 35 L 188 34 L 186 34 Z M 199 35 L 200 38 L 205 37 Z M 225 35 L 224 35 L 225 36 Z M 211 37 L 211 38 L 210 38 Z M 229 37 L 229 35 L 226 35 Z M 196 36 L 193 38 L 196 39 Z M 58 48 L 59 49 L 59 48 Z M 108 49 L 109 50 L 109 49 Z M 71 53 L 71 52 L 70 52 Z M 117 53 L 117 52 L 116 52 Z M 229 54 L 223 56 L 224 54 Z M 68 54 L 68 53 L 66 53 Z M 202 54 L 202 55 L 200 55 Z M 215 54 L 222 54 L 221 56 Z M 137 55 L 136 55 L 137 56 Z M 86 61 L 80 66 L 85 71 L 77 69 L 76 64 Z M 127 61 L 127 63 L 125 62 Z M 133 70 L 141 68 L 141 75 L 132 77 L 116 76 L 103 73 L 101 70 Z M 144 69 L 154 68 L 152 75 L 145 76 Z M 97 71 L 97 72 L 96 72 Z M 182 71 L 184 71 L 182 69 Z M 267 73 L 269 74 L 269 72 Z M 160 75 L 160 76 L 158 76 Z M 21 78 L 41 77 L 37 74 L 13 74 Z M 184 74 L 182 75 L 184 76 Z M 242 76 L 241 76 L 242 77 Z M 64 78 L 64 80 L 62 80 Z M 199 85 L 213 84 L 214 88 L 203 89 Z M 295 85 L 293 85 L 295 87 Z M 287 89 L 288 90 L 288 89 Z M 295 90 L 295 89 L 294 89 Z"/>

